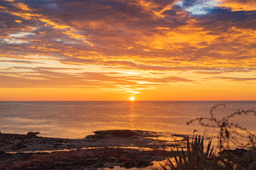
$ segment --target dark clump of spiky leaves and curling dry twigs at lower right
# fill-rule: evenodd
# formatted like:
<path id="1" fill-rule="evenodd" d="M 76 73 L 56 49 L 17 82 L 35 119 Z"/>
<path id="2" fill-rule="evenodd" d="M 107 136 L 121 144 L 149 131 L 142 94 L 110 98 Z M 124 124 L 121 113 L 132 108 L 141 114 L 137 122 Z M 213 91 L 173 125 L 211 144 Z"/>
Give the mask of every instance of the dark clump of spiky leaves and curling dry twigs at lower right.
<path id="1" fill-rule="evenodd" d="M 255 170 L 256 169 L 256 147 L 255 141 L 256 137 L 250 130 L 243 128 L 238 125 L 238 123 L 233 123 L 231 118 L 234 118 L 236 115 L 256 115 L 254 109 L 247 111 L 237 111 L 230 115 L 227 115 L 223 118 L 217 118 L 213 111 L 218 108 L 218 105 L 210 109 L 210 117 L 201 117 L 195 118 L 188 121 L 188 125 L 196 122 L 203 128 L 213 128 L 218 130 L 218 148 L 220 151 L 219 155 L 213 154 L 213 147 L 210 149 L 211 140 L 208 142 L 208 147 L 206 152 L 203 152 L 203 137 L 199 136 L 192 139 L 192 142 L 189 143 L 187 137 L 187 151 L 184 152 L 181 148 L 181 151 L 178 150 L 178 157 L 175 155 L 174 151 L 174 163 L 171 162 L 169 158 L 169 163 L 165 166 L 160 164 L 162 169 L 167 170 L 201 170 L 201 169 L 225 169 L 225 170 Z M 243 143 L 239 137 L 246 137 L 248 142 Z M 229 149 L 229 143 L 238 145 L 240 147 L 245 147 L 250 145 L 250 150 L 245 149 Z M 224 149 L 226 147 L 226 149 Z M 223 150 L 224 149 L 224 150 Z M 176 164 L 176 165 L 174 165 Z"/>

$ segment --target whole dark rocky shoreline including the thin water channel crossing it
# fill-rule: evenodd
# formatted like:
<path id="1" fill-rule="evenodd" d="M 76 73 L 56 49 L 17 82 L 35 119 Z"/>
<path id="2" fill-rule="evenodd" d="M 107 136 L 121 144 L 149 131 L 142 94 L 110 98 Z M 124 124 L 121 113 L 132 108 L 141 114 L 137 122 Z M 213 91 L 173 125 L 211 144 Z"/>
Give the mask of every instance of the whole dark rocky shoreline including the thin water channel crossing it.
<path id="1" fill-rule="evenodd" d="M 157 137 L 141 130 L 101 130 L 83 139 L 0 134 L 0 169 L 144 168 L 171 157 L 174 152 L 166 148 L 186 138 L 169 142 Z"/>

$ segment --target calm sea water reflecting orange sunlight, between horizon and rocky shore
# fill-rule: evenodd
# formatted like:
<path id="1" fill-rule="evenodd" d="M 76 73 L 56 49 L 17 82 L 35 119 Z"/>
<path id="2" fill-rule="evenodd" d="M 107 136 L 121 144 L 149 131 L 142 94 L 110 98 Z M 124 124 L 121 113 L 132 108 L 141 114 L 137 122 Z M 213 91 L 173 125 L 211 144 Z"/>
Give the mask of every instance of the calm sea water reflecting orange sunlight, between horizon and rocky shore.
<path id="1" fill-rule="evenodd" d="M 45 137 L 80 138 L 96 130 L 133 129 L 191 135 L 203 133 L 188 120 L 208 116 L 218 104 L 218 118 L 238 109 L 256 108 L 256 101 L 1 101 L 0 131 L 26 134 L 41 132 Z M 256 116 L 235 118 L 240 125 L 256 132 Z M 216 133 L 215 130 L 209 131 Z"/>

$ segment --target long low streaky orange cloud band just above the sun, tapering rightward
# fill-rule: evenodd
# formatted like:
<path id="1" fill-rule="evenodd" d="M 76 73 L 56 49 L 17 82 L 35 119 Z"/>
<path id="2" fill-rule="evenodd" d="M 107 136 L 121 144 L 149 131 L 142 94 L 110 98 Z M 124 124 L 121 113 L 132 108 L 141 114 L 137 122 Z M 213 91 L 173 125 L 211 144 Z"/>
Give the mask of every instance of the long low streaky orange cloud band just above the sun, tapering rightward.
<path id="1" fill-rule="evenodd" d="M 73 70 L 74 72 L 70 72 Z M 91 88 L 98 86 L 102 88 L 123 89 L 124 86 L 131 86 L 130 89 L 145 89 L 145 85 L 164 86 L 166 83 L 180 81 L 191 81 L 182 77 L 151 77 L 150 79 L 122 74 L 118 72 L 82 72 L 78 68 L 58 67 L 9 67 L 0 70 L 1 88 L 11 87 L 84 87 Z M 17 82 L 19 82 L 17 84 Z M 132 87 L 134 86 L 134 87 Z"/>

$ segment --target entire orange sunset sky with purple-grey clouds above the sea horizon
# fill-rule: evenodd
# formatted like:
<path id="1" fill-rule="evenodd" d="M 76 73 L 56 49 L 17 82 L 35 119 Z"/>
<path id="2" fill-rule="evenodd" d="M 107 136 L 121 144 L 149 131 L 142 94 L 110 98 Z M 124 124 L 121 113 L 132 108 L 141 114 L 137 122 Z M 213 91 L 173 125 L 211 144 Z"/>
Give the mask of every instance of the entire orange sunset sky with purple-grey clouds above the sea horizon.
<path id="1" fill-rule="evenodd" d="M 255 101 L 255 0 L 1 0 L 0 101 Z"/>

